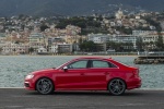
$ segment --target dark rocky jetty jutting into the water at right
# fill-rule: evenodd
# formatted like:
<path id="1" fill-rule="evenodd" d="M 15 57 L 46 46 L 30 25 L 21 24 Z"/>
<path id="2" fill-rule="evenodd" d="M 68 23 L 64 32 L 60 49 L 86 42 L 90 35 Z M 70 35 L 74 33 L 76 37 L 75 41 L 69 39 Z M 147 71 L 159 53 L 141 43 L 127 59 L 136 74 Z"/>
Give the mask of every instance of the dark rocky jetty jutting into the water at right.
<path id="1" fill-rule="evenodd" d="M 133 60 L 136 64 L 164 64 L 164 52 L 144 52 L 140 53 L 138 58 Z"/>

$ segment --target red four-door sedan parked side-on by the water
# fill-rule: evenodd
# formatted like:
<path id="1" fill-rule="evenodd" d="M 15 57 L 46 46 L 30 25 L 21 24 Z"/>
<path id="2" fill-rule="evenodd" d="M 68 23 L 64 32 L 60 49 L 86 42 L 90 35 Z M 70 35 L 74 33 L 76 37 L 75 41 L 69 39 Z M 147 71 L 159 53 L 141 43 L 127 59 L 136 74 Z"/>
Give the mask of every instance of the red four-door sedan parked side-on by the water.
<path id="1" fill-rule="evenodd" d="M 25 77 L 26 89 L 39 94 L 54 90 L 109 90 L 122 95 L 126 89 L 139 88 L 139 69 L 106 58 L 78 58 L 56 69 L 35 71 Z"/>

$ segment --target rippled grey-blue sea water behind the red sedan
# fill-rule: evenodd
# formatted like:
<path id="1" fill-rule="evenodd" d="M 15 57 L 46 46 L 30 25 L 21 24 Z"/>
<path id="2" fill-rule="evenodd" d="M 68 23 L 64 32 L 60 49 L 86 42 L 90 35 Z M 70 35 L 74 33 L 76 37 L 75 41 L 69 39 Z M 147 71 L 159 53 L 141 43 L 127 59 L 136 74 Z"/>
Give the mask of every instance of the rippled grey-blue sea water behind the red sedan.
<path id="1" fill-rule="evenodd" d="M 1 56 L 0 87 L 23 87 L 28 73 L 58 65 L 78 56 Z M 163 64 L 133 64 L 136 57 L 112 57 L 128 65 L 139 68 L 143 89 L 164 89 Z"/>

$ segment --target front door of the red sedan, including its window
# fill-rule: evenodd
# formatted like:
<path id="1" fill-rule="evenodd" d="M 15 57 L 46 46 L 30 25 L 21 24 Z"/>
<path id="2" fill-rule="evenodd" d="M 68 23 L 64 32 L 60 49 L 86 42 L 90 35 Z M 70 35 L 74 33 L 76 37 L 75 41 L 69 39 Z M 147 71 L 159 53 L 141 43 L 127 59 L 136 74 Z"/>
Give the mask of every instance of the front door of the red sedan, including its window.
<path id="1" fill-rule="evenodd" d="M 56 76 L 57 89 L 83 89 L 84 73 L 87 69 L 89 60 L 78 60 L 67 64 L 67 70 L 61 70 Z"/>

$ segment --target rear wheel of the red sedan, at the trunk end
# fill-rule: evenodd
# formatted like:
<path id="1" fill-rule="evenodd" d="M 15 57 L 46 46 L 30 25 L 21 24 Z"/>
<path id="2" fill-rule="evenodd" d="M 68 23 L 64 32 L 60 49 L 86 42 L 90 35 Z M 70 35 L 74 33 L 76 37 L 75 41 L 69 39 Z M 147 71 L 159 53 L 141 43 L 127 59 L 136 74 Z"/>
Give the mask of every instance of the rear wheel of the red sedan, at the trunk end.
<path id="1" fill-rule="evenodd" d="M 120 78 L 114 78 L 108 83 L 108 90 L 114 96 L 125 94 L 126 83 Z"/>

